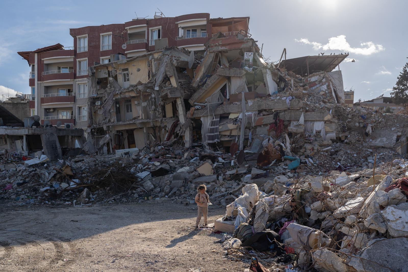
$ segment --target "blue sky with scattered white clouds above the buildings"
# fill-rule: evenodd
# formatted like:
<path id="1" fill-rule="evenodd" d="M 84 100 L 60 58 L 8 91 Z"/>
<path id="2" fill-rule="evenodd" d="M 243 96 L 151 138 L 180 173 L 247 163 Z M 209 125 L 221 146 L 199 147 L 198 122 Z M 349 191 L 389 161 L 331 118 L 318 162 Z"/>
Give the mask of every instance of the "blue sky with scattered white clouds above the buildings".
<path id="1" fill-rule="evenodd" d="M 152 4 L 154 3 L 154 4 Z M 242 1 L 45 1 L 2 0 L 0 18 L 0 99 L 15 91 L 29 93 L 29 66 L 17 51 L 60 42 L 73 46 L 69 28 L 124 23 L 149 16 L 208 12 L 211 18 L 250 16 L 250 33 L 262 43 L 265 58 L 287 58 L 350 52 L 342 62 L 344 88 L 355 89 L 355 101 L 389 96 L 407 62 L 406 1 L 286 0 Z M 7 89 L 9 88 L 9 90 Z"/>

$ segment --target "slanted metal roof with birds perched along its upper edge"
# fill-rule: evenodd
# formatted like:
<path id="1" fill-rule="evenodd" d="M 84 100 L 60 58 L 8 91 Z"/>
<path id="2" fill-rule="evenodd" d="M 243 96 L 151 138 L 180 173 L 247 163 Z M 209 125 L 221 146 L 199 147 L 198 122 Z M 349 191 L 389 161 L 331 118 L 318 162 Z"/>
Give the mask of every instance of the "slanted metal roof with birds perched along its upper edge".
<path id="1" fill-rule="evenodd" d="M 282 60 L 280 66 L 299 76 L 308 76 L 321 71 L 331 72 L 347 57 L 348 54 L 289 58 Z"/>

